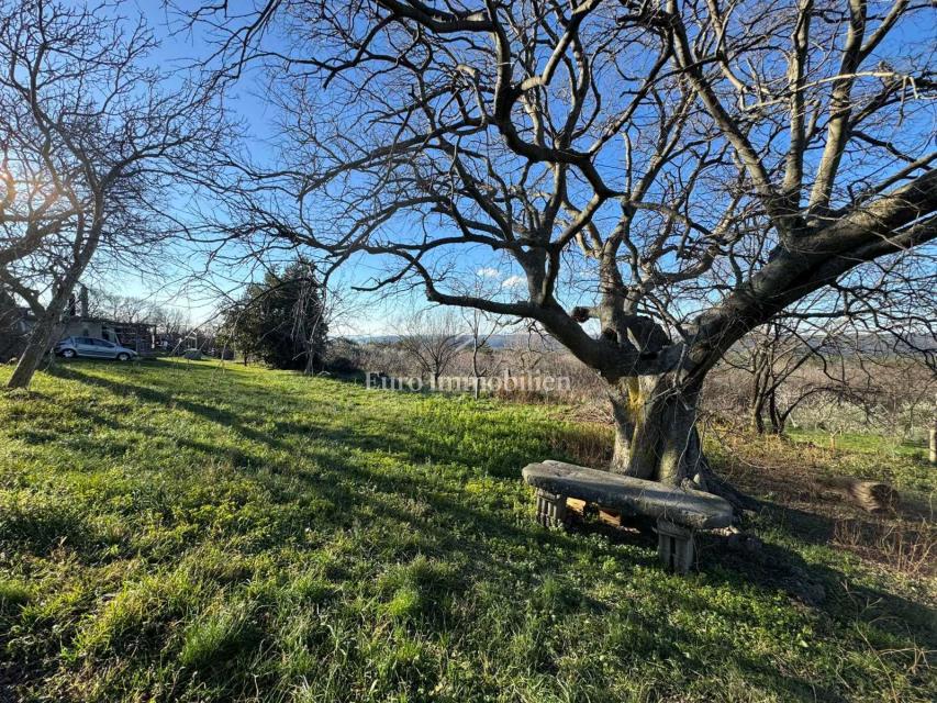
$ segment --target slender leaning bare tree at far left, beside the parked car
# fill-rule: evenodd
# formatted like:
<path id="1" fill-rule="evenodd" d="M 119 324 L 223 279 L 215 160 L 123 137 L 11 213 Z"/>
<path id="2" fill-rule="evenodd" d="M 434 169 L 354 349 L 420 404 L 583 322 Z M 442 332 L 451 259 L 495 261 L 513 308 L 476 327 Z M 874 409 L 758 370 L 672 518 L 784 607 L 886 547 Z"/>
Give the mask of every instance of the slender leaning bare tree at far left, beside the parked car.
<path id="1" fill-rule="evenodd" d="M 152 254 L 175 226 L 170 186 L 205 178 L 222 148 L 216 102 L 166 85 L 155 46 L 112 3 L 0 2 L 0 283 L 36 317 L 11 388 L 30 383 L 96 254 Z"/>

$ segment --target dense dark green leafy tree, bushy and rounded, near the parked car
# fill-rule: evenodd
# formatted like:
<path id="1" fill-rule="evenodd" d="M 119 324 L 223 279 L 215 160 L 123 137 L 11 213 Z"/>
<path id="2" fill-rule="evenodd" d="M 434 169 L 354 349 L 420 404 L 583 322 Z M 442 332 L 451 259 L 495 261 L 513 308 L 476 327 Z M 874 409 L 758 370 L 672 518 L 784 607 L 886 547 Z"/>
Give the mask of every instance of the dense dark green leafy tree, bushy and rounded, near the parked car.
<path id="1" fill-rule="evenodd" d="M 224 337 L 245 359 L 313 373 L 322 368 L 327 324 L 315 267 L 303 259 L 268 271 L 225 315 Z"/>

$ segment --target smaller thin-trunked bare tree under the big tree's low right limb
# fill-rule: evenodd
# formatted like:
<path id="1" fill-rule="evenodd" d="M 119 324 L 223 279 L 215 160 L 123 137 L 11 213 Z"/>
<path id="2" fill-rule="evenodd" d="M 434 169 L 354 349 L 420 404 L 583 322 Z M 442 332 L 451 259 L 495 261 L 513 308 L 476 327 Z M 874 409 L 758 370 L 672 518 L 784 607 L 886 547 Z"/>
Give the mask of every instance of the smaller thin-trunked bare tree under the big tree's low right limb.
<path id="1" fill-rule="evenodd" d="M 862 406 L 868 416 L 882 405 L 894 369 L 933 376 L 937 291 L 930 279 L 905 272 L 857 280 L 837 291 L 832 310 L 829 294 L 818 291 L 737 343 L 723 361 L 751 377 L 751 428 L 763 433 L 767 415 L 771 432 L 782 434 L 793 412 L 817 397 Z M 912 394 L 900 391 L 893 405 L 904 406 Z"/>

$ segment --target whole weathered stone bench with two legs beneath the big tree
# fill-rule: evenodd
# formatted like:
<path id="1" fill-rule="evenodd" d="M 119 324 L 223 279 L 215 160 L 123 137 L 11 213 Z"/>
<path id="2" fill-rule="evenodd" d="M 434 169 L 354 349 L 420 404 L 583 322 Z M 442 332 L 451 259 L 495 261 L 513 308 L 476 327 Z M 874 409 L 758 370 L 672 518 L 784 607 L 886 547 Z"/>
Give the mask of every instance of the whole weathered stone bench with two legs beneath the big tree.
<path id="1" fill-rule="evenodd" d="M 693 566 L 695 531 L 732 523 L 732 505 L 711 493 L 553 460 L 529 464 L 522 473 L 537 489 L 537 521 L 545 526 L 567 524 L 568 498 L 657 520 L 658 554 L 678 573 Z"/>

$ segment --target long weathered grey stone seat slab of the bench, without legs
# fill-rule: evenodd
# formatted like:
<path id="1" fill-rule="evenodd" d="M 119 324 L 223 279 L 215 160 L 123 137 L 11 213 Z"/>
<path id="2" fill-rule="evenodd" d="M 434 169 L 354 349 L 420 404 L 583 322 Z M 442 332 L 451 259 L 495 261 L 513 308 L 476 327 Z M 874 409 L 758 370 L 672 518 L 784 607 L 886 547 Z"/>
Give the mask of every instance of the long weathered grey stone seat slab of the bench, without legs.
<path id="1" fill-rule="evenodd" d="M 691 529 L 714 529 L 732 524 L 732 505 L 702 491 L 553 460 L 529 464 L 522 473 L 527 483 L 542 491 L 578 498 L 625 514 L 647 515 Z"/>

